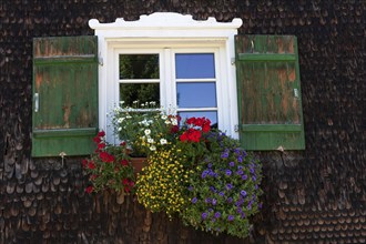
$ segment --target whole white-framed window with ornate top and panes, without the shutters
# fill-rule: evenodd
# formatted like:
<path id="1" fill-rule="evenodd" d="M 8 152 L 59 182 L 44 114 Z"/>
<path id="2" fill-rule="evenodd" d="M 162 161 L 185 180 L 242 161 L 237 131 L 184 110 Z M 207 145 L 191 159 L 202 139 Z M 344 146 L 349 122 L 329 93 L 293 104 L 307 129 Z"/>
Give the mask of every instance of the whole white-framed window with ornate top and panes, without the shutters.
<path id="1" fill-rule="evenodd" d="M 237 101 L 234 35 L 242 20 L 228 23 L 213 18 L 153 13 L 138 21 L 114 23 L 91 20 L 99 39 L 100 126 L 113 135 L 109 111 L 120 101 L 159 101 L 184 119 L 206 116 L 234 138 Z"/>

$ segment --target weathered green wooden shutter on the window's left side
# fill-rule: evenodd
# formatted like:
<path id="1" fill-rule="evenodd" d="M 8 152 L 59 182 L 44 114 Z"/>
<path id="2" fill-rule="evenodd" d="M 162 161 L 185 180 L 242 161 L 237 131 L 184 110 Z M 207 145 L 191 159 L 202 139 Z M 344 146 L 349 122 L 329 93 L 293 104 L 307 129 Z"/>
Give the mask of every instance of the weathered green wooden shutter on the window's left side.
<path id="1" fill-rule="evenodd" d="M 96 37 L 33 39 L 32 156 L 85 155 L 98 130 Z"/>

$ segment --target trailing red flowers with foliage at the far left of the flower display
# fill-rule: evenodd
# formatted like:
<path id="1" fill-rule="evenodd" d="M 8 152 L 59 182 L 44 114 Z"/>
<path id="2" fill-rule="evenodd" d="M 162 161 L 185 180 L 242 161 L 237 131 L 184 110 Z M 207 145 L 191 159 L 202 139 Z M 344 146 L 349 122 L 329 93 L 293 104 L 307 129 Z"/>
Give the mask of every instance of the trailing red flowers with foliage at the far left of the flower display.
<path id="1" fill-rule="evenodd" d="M 84 173 L 89 176 L 88 193 L 105 189 L 130 193 L 134 186 L 134 173 L 128 155 L 126 145 L 114 146 L 105 142 L 105 133 L 99 132 L 94 138 L 96 150 L 90 159 L 82 161 Z"/>

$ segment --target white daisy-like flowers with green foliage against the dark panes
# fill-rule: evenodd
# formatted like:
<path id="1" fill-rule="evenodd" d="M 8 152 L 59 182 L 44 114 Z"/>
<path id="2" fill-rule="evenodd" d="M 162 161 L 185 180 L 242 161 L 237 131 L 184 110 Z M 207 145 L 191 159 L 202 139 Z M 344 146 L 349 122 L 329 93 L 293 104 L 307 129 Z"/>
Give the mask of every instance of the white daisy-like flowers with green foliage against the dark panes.
<path id="1" fill-rule="evenodd" d="M 167 115 L 155 108 L 155 102 L 133 102 L 132 106 L 114 108 L 112 124 L 119 139 L 125 141 L 133 155 L 148 155 L 171 144 L 179 131 L 179 116 Z"/>

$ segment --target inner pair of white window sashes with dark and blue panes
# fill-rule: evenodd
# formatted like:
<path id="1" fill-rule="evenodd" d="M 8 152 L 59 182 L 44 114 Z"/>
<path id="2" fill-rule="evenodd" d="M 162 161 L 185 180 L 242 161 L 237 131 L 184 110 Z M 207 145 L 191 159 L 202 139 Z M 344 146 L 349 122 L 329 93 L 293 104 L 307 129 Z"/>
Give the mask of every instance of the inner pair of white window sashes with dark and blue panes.
<path id="1" fill-rule="evenodd" d="M 133 49 L 132 49 L 133 50 Z M 118 50 L 119 101 L 156 101 L 184 119 L 209 118 L 217 125 L 215 49 L 164 48 L 145 53 Z M 204 51 L 204 52 L 203 52 Z M 114 101 L 118 104 L 119 101 Z"/>

